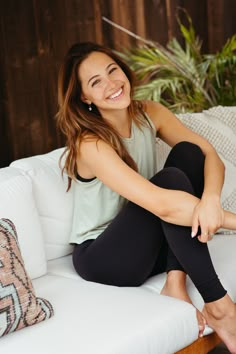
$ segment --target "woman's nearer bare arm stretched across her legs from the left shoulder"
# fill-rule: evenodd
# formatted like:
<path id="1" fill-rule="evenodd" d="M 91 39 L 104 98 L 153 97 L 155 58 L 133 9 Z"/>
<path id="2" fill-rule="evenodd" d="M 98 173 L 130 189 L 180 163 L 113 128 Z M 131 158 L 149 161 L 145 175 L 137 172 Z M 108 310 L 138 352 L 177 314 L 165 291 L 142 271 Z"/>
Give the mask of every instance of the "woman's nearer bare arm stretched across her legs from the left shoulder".
<path id="1" fill-rule="evenodd" d="M 117 153 L 101 140 L 82 142 L 80 159 L 86 165 L 90 176 L 96 176 L 124 198 L 169 223 L 191 226 L 194 209 L 199 203 L 198 198 L 186 192 L 155 186 L 127 166 Z M 236 228 L 236 215 L 233 223 Z M 227 225 L 223 222 L 220 226 Z"/>

